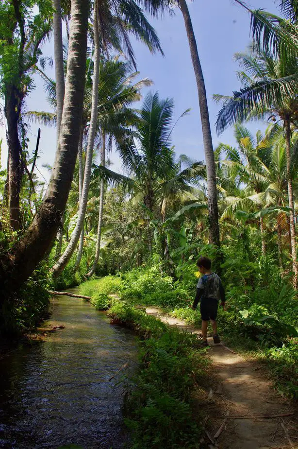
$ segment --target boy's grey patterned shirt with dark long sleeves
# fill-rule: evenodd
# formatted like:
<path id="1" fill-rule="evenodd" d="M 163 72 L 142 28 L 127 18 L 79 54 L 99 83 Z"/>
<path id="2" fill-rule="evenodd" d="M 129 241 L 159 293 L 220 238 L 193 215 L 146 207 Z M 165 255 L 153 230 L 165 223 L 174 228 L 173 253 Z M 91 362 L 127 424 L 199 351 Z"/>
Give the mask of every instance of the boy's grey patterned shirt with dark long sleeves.
<path id="1" fill-rule="evenodd" d="M 197 294 L 193 303 L 195 309 L 201 298 L 215 298 L 217 301 L 226 302 L 225 289 L 223 288 L 221 279 L 216 273 L 204 275 L 199 278 L 197 285 Z"/>

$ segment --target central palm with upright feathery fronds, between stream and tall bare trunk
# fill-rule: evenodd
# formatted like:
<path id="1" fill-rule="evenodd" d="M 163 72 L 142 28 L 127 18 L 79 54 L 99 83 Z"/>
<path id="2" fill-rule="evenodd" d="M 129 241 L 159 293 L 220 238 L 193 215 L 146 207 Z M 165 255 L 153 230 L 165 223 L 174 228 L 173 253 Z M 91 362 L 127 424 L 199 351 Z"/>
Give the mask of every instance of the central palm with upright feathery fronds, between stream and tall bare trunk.
<path id="1" fill-rule="evenodd" d="M 149 251 L 152 244 L 149 222 L 154 208 L 161 204 L 174 185 L 177 191 L 191 191 L 187 181 L 195 180 L 202 172 L 202 165 L 197 162 L 177 174 L 173 149 L 169 147 L 173 108 L 173 100 L 160 100 L 157 92 L 149 93 L 140 111 L 136 131 L 117 143 L 117 150 L 128 176 L 104 167 L 95 171 L 106 182 L 133 192 L 137 201 L 144 204 Z"/>

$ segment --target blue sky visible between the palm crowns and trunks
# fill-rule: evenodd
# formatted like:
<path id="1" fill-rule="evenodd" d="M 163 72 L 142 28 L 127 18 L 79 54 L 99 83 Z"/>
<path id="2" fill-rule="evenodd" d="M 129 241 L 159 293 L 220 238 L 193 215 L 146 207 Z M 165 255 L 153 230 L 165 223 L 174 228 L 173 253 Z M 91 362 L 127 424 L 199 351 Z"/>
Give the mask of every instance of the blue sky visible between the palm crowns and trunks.
<path id="1" fill-rule="evenodd" d="M 277 12 L 274 0 L 250 0 L 249 4 L 252 8 L 264 8 L 270 12 Z M 250 42 L 250 17 L 233 0 L 195 0 L 188 3 L 188 6 L 206 83 L 214 147 L 219 141 L 233 144 L 232 129 L 228 129 L 220 137 L 216 135 L 215 121 L 219 106 L 213 102 L 212 95 L 215 93 L 229 95 L 232 90 L 239 88 L 235 73 L 238 64 L 233 62 L 233 54 L 244 51 Z M 197 87 L 182 14 L 177 9 L 174 17 L 150 19 L 150 22 L 157 31 L 165 57 L 160 54 L 151 55 L 143 44 L 132 39 L 137 68 L 140 71 L 139 78 L 152 79 L 154 85 L 150 89 L 158 90 L 161 98 L 174 98 L 176 118 L 185 109 L 191 108 L 189 115 L 182 118 L 176 125 L 172 134 L 172 144 L 175 145 L 177 155 L 184 153 L 194 159 L 203 160 L 204 149 Z M 53 55 L 53 43 L 47 43 L 42 50 L 44 55 Z M 54 77 L 53 70 L 47 70 L 47 73 Z M 43 91 L 42 80 L 36 75 L 34 81 L 36 88 L 27 99 L 26 109 L 50 110 Z M 143 95 L 148 89 L 143 89 Z M 248 127 L 252 132 L 264 129 L 264 125 L 256 123 L 251 123 Z M 28 137 L 31 153 L 36 142 L 37 128 L 38 126 L 30 125 Z M 5 167 L 7 147 L 3 127 L 0 128 L 0 138 L 3 138 L 1 163 L 2 167 Z M 55 129 L 41 126 L 40 159 L 37 167 L 46 180 L 49 179 L 49 172 L 42 168 L 42 164 L 53 163 L 55 141 Z M 112 156 L 112 161 L 113 169 L 120 170 L 116 155 Z"/>

